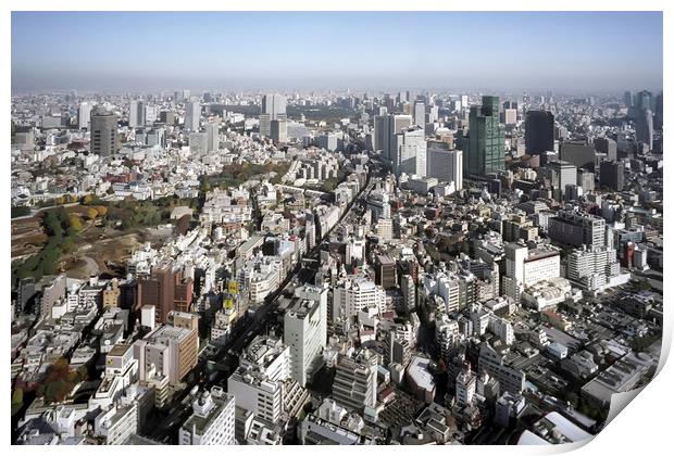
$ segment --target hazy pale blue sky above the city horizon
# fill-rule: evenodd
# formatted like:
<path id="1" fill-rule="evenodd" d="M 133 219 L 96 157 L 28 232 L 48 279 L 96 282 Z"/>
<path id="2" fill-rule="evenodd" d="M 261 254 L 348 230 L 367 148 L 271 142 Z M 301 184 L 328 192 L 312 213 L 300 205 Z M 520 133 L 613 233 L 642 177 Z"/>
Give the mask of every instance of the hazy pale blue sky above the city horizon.
<path id="1" fill-rule="evenodd" d="M 662 87 L 660 12 L 13 12 L 12 90 Z"/>

